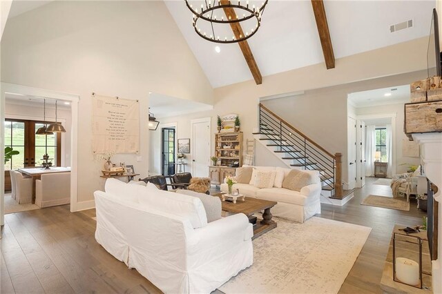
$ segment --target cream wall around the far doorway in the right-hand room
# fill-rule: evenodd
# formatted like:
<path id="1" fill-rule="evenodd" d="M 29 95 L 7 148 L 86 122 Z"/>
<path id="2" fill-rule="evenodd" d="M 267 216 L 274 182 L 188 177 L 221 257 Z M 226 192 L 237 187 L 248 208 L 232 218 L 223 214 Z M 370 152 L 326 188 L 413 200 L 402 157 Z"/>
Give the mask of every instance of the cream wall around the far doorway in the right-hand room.
<path id="1" fill-rule="evenodd" d="M 403 121 L 404 121 L 404 104 L 387 104 L 382 106 L 369 106 L 363 108 L 356 108 L 356 115 L 382 115 L 396 114 L 396 118 L 392 119 L 392 124 L 396 126 L 396 146 L 394 153 L 396 153 L 396 173 L 406 173 L 407 167 L 410 165 L 421 164 L 419 157 L 405 157 L 402 155 L 403 140 L 408 140 L 405 133 L 403 133 Z M 368 126 L 369 124 L 367 124 Z M 405 165 L 402 165 L 405 164 Z"/>

